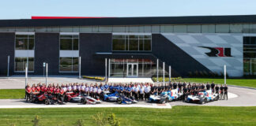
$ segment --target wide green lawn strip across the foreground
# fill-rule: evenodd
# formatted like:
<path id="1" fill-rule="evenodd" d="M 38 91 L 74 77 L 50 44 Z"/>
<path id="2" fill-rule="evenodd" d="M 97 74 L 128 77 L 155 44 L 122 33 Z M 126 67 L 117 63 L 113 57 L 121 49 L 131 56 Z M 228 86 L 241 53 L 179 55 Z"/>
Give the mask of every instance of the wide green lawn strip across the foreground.
<path id="1" fill-rule="evenodd" d="M 38 115 L 40 125 L 73 125 L 84 120 L 95 125 L 92 115 L 115 113 L 121 125 L 254 125 L 256 107 L 174 106 L 172 109 L 145 108 L 49 108 L 0 109 L 1 125 L 32 125 Z"/>

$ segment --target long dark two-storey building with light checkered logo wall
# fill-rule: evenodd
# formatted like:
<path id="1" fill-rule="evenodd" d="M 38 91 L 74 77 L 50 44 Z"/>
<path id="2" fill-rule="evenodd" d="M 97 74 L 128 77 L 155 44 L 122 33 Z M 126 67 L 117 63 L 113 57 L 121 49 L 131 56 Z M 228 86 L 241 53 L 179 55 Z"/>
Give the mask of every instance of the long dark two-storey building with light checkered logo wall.
<path id="1" fill-rule="evenodd" d="M 197 17 L 32 17 L 0 20 L 0 74 L 150 77 L 256 73 L 256 15 Z M 9 64 L 8 64 L 9 56 Z"/>

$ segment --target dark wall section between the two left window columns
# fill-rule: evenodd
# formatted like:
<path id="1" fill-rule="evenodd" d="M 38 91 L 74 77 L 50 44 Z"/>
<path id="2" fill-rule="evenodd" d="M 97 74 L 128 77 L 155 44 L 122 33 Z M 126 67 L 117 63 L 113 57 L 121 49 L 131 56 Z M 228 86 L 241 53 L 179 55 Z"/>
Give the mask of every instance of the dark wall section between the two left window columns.
<path id="1" fill-rule="evenodd" d="M 48 63 L 48 74 L 57 75 L 59 68 L 59 34 L 36 33 L 35 74 L 43 75 L 43 61 Z"/>

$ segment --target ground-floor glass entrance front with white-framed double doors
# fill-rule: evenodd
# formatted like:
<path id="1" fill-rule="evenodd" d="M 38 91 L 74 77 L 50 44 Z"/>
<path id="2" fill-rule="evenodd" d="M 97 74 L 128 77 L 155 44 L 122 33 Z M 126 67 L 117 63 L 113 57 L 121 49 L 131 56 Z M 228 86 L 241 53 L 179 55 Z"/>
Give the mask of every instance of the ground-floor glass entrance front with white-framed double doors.
<path id="1" fill-rule="evenodd" d="M 156 75 L 156 63 L 150 59 L 111 59 L 110 76 L 151 77 Z"/>

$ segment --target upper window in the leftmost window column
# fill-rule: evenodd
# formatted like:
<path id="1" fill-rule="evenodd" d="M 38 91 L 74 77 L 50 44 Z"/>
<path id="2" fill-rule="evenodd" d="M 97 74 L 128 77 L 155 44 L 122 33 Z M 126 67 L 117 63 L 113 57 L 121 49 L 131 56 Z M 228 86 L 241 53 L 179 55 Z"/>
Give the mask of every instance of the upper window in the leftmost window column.
<path id="1" fill-rule="evenodd" d="M 15 50 L 34 50 L 34 35 L 16 35 Z"/>

